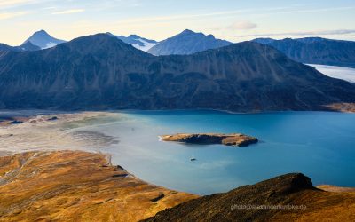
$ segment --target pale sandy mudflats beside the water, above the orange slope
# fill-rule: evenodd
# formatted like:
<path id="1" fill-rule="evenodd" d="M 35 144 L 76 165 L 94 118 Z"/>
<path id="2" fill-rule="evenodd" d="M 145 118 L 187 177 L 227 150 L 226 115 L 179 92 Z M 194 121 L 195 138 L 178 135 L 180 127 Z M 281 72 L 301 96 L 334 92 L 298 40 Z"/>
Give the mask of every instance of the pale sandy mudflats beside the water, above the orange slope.
<path id="1" fill-rule="evenodd" d="M 91 121 L 119 115 L 83 112 L 20 117 L 23 123 L 7 122 L 0 125 L 0 155 L 35 150 L 99 150 L 118 141 L 103 133 L 80 128 Z M 13 119 L 19 117 L 13 116 Z"/>

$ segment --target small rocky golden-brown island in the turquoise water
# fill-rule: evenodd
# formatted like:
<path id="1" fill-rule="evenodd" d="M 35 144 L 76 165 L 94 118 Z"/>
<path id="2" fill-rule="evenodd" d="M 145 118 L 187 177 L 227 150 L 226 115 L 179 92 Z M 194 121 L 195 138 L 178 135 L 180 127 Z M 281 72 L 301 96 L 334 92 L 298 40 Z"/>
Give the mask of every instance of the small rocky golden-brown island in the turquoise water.
<path id="1" fill-rule="evenodd" d="M 254 137 L 240 133 L 220 134 L 220 133 L 177 133 L 174 135 L 163 135 L 163 141 L 173 141 L 191 144 L 223 144 L 225 146 L 246 147 L 257 143 Z"/>

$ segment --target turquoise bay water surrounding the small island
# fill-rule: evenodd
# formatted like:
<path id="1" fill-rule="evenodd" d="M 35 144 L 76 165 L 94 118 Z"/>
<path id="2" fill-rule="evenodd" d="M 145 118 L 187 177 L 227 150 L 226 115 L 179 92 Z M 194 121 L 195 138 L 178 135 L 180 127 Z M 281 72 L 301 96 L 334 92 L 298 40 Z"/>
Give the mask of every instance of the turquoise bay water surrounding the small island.
<path id="1" fill-rule="evenodd" d="M 114 163 L 178 191 L 225 192 L 288 172 L 303 172 L 313 185 L 355 186 L 354 114 L 132 111 L 90 128 L 120 141 L 104 149 Z M 260 142 L 250 147 L 188 146 L 158 139 L 177 132 L 241 132 Z M 196 162 L 190 161 L 192 156 Z"/>

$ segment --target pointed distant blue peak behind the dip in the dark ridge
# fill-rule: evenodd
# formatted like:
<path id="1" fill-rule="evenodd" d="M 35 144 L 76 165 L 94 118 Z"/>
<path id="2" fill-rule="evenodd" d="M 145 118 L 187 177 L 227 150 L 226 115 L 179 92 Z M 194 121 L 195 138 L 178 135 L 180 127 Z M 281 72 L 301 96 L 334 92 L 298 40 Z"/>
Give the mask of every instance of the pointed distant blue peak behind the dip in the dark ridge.
<path id="1" fill-rule="evenodd" d="M 206 36 L 203 33 L 195 33 L 186 29 L 177 36 L 172 36 L 154 45 L 147 52 L 154 55 L 188 55 L 194 52 L 202 52 L 209 49 L 216 49 L 231 42 L 217 39 L 215 36 Z"/>

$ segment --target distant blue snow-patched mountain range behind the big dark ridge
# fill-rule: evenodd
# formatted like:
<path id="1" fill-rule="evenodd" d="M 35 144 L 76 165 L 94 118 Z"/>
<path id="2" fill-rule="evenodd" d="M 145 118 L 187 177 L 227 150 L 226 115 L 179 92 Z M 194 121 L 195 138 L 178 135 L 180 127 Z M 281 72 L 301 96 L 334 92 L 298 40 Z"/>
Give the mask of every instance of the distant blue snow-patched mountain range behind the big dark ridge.
<path id="1" fill-rule="evenodd" d="M 111 33 L 107 33 L 114 36 Z M 115 36 L 126 44 L 131 44 L 138 50 L 153 55 L 188 55 L 209 49 L 216 49 L 232 44 L 217 39 L 212 35 L 195 33 L 186 29 L 182 33 L 161 42 L 147 39 L 138 35 Z M 252 40 L 259 44 L 267 44 L 285 53 L 290 59 L 305 64 L 319 64 L 339 67 L 355 67 L 355 42 L 332 40 L 319 37 L 286 38 L 256 38 Z M 50 36 L 44 30 L 37 31 L 20 46 L 0 44 L 0 52 L 7 51 L 37 51 L 65 43 Z"/>

